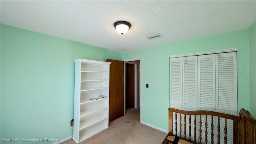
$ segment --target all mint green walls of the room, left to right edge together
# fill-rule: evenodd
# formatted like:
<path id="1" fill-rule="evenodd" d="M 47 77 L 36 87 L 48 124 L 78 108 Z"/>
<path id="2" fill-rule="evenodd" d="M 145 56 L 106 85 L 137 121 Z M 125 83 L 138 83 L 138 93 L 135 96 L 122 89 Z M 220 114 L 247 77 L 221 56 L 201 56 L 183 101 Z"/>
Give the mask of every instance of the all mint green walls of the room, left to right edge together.
<path id="1" fill-rule="evenodd" d="M 237 48 L 238 110 L 245 108 L 255 116 L 255 26 L 254 22 L 250 29 L 126 52 L 121 56 L 1 24 L 1 138 L 63 139 L 72 135 L 73 60 L 76 58 L 100 61 L 142 58 L 142 121 L 168 130 L 169 56 Z"/>

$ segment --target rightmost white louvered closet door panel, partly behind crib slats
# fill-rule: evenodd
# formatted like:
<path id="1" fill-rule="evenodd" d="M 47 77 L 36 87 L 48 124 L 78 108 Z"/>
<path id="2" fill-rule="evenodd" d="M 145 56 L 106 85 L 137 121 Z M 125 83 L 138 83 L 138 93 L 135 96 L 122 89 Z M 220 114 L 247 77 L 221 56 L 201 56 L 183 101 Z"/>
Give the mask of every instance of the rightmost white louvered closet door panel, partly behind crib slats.
<path id="1" fill-rule="evenodd" d="M 216 54 L 216 112 L 237 115 L 236 52 Z M 227 142 L 233 143 L 233 122 L 227 120 Z M 225 120 L 220 119 L 220 143 L 224 143 Z"/>

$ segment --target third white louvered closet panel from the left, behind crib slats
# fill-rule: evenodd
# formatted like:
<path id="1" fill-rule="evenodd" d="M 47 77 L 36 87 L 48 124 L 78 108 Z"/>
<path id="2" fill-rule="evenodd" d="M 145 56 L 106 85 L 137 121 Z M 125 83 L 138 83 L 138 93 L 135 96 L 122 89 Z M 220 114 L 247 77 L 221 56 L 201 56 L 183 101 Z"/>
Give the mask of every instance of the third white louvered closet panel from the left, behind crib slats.
<path id="1" fill-rule="evenodd" d="M 198 56 L 198 109 L 199 110 L 211 110 L 215 111 L 216 109 L 216 100 L 215 100 L 215 54 L 208 54 Z M 198 117 L 198 120 L 200 118 Z M 214 118 L 215 123 L 215 118 Z M 207 124 L 207 131 L 206 126 Z M 199 124 L 200 125 L 200 124 Z M 199 126 L 198 125 L 198 126 Z M 206 141 L 210 142 L 211 138 L 211 117 L 201 116 L 201 136 L 199 136 L 199 142 L 204 144 Z M 214 131 L 214 135 L 215 131 Z M 215 140 L 214 140 L 215 142 Z"/>

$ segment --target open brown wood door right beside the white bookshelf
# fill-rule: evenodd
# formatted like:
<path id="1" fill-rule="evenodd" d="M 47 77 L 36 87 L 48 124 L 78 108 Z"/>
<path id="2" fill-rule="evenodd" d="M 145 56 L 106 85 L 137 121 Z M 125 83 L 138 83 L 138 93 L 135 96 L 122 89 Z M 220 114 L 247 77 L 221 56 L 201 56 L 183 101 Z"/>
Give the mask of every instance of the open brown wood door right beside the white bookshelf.
<path id="1" fill-rule="evenodd" d="M 107 59 L 110 64 L 109 122 L 124 116 L 124 62 Z"/>

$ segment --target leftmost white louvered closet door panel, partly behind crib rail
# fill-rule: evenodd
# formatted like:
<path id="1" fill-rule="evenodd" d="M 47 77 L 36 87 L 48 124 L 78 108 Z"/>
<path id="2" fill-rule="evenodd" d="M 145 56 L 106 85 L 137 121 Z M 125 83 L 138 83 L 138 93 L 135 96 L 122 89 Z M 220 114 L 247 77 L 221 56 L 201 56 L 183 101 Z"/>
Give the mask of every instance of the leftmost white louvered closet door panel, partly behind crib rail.
<path id="1" fill-rule="evenodd" d="M 170 58 L 170 107 L 182 110 L 182 58 Z M 173 114 L 175 124 L 175 114 Z M 182 122 L 181 122 L 182 124 Z M 173 125 L 173 133 L 180 136 L 180 115 L 177 114 L 177 128 Z"/>

